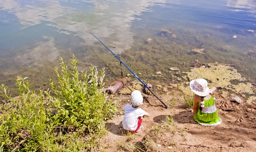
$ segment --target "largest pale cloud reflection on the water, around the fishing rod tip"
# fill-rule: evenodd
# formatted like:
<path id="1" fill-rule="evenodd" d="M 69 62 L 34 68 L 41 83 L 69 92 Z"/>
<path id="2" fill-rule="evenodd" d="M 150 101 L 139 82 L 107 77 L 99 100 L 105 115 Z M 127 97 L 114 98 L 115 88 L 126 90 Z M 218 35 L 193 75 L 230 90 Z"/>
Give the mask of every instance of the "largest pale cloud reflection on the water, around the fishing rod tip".
<path id="1" fill-rule="evenodd" d="M 81 8 L 93 4 L 87 10 L 62 6 L 62 3 L 79 2 Z M 47 25 L 60 29 L 61 33 L 75 32 L 84 39 L 86 44 L 93 44 L 96 39 L 85 28 L 104 40 L 109 46 L 114 46 L 114 52 L 121 52 L 131 47 L 134 33 L 131 32 L 132 21 L 138 19 L 143 11 L 151 11 L 149 6 L 154 3 L 165 3 L 166 0 L 91 0 L 87 1 L 41 1 L 40 5 L 31 3 L 21 6 L 15 0 L 0 0 L 1 9 L 15 14 L 21 28 L 35 26 L 48 21 Z M 38 29 L 40 30 L 40 29 Z M 62 31 L 65 30 L 65 31 Z M 66 30 L 70 31 L 67 32 Z"/>

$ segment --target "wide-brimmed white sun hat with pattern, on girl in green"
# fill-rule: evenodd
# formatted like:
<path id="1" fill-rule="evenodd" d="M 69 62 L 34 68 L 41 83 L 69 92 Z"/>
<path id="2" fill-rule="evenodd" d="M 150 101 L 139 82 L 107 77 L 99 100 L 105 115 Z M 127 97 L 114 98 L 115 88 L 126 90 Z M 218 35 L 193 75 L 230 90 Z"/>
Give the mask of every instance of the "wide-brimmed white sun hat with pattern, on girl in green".
<path id="1" fill-rule="evenodd" d="M 189 86 L 192 92 L 201 97 L 205 97 L 211 93 L 211 90 L 208 88 L 207 80 L 205 79 L 195 79 L 190 81 Z"/>

